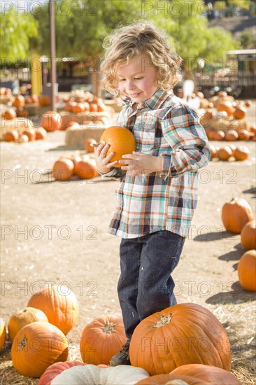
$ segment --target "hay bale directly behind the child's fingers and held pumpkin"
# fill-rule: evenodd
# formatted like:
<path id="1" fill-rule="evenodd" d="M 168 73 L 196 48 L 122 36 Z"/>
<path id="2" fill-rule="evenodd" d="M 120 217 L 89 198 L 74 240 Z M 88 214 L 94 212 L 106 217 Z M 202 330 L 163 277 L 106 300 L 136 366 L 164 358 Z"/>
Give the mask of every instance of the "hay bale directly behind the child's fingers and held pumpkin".
<path id="1" fill-rule="evenodd" d="M 93 138 L 96 141 L 99 141 L 101 135 L 107 127 L 108 126 L 106 125 L 95 125 L 94 128 L 88 126 L 81 126 L 80 128 L 70 128 L 69 130 L 66 130 L 66 146 L 78 148 L 79 150 L 84 149 L 85 141 L 87 139 Z"/>

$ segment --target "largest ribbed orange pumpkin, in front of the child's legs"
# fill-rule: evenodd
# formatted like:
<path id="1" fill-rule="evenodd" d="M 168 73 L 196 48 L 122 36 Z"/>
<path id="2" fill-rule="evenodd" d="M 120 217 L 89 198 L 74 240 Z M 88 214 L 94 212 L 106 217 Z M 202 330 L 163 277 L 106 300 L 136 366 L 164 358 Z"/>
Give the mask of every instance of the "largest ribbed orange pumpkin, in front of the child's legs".
<path id="1" fill-rule="evenodd" d="M 225 328 L 211 311 L 193 303 L 176 304 L 143 319 L 131 337 L 129 357 L 131 365 L 150 375 L 190 363 L 231 367 Z"/>

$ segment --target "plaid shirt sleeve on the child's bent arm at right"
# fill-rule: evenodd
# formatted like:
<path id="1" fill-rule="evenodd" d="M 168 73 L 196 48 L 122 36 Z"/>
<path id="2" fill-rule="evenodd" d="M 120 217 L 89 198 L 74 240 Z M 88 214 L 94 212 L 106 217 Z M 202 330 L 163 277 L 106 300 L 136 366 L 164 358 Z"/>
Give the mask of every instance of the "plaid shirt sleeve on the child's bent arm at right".
<path id="1" fill-rule="evenodd" d="M 173 152 L 162 153 L 161 176 L 176 176 L 196 171 L 208 164 L 211 150 L 204 127 L 189 106 L 173 107 L 161 120 L 164 138 Z"/>

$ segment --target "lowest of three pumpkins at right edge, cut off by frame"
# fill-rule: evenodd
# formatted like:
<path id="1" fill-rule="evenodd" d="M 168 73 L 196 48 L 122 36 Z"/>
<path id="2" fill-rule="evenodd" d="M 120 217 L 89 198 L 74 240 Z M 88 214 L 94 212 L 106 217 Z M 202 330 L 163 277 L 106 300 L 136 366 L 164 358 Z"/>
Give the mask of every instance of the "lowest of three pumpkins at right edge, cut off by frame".
<path id="1" fill-rule="evenodd" d="M 246 251 L 237 268 L 239 282 L 248 291 L 256 291 L 256 250 Z"/>

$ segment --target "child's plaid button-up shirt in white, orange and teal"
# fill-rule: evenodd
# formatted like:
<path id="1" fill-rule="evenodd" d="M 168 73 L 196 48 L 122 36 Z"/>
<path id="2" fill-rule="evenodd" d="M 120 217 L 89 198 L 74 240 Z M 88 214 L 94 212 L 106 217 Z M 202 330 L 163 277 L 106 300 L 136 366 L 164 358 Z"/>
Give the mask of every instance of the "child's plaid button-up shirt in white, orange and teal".
<path id="1" fill-rule="evenodd" d="M 136 151 L 162 156 L 162 172 L 133 175 L 114 168 L 103 177 L 120 178 L 116 207 L 108 232 L 135 238 L 160 230 L 186 237 L 197 206 L 198 169 L 211 152 L 197 114 L 171 92 L 157 90 L 132 110 L 131 101 L 118 117 L 136 139 Z"/>

